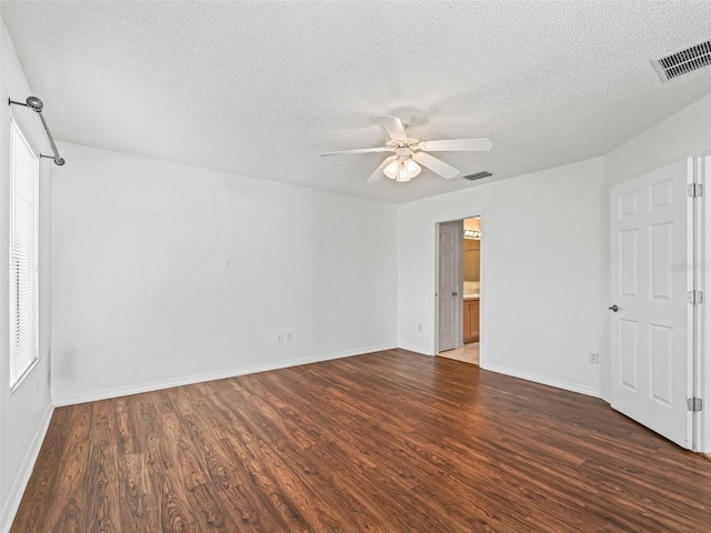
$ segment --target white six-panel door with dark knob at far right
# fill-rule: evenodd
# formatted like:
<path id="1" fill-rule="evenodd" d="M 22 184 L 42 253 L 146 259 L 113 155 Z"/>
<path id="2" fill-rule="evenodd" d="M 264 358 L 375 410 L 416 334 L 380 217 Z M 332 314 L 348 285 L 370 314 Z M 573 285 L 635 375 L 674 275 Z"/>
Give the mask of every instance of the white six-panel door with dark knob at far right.
<path id="1" fill-rule="evenodd" d="M 612 408 L 687 449 L 692 181 L 691 161 L 682 160 L 612 188 L 611 205 Z"/>

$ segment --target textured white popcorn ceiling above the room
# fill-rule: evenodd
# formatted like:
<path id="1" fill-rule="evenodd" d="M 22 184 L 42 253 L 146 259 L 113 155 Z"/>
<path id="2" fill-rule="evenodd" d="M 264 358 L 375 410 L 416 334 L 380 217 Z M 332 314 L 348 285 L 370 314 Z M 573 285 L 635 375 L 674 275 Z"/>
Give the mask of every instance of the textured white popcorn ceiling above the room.
<path id="1" fill-rule="evenodd" d="M 662 84 L 649 63 L 711 38 L 710 1 L 3 0 L 2 17 L 60 140 L 390 202 L 477 185 L 367 185 L 384 154 L 319 158 L 383 143 L 379 114 L 488 137 L 490 153 L 441 159 L 502 179 L 605 153 L 711 92 L 711 68 Z"/>

